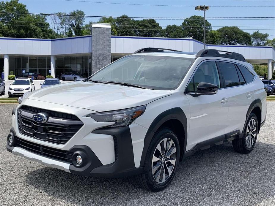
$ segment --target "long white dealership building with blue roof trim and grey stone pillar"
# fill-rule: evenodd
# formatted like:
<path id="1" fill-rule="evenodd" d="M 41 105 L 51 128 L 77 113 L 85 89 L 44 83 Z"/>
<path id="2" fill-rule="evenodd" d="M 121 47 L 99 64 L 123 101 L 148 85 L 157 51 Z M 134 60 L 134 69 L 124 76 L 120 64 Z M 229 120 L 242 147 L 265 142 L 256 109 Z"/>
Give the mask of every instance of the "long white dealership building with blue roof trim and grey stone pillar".
<path id="1" fill-rule="evenodd" d="M 93 23 L 91 35 L 59 39 L 0 38 L 0 72 L 8 75 L 24 72 L 59 77 L 78 72 L 88 77 L 103 66 L 144 47 L 198 52 L 203 43 L 195 39 L 111 36 L 110 24 Z M 275 49 L 268 46 L 206 45 L 241 53 L 251 64 L 268 63 L 268 78 L 275 69 Z M 122 71 L 123 72 L 123 71 Z"/>

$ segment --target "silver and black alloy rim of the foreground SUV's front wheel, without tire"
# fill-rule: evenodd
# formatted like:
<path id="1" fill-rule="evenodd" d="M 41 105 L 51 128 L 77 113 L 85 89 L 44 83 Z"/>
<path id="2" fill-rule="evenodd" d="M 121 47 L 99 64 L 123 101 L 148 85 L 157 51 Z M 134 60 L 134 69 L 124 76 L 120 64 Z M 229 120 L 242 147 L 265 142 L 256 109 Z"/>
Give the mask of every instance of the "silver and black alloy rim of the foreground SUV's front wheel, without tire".
<path id="1" fill-rule="evenodd" d="M 158 143 L 153 153 L 152 174 L 156 182 L 168 180 L 176 164 L 176 147 L 173 140 L 165 138 Z"/>

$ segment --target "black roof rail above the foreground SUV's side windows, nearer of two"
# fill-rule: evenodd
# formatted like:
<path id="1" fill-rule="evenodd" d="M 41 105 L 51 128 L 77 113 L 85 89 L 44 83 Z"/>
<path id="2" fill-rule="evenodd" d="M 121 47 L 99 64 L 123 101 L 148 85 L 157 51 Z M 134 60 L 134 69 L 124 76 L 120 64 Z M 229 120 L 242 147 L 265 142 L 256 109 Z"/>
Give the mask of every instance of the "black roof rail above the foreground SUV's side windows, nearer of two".
<path id="1" fill-rule="evenodd" d="M 225 54 L 221 54 L 219 52 L 224 52 Z M 246 59 L 243 57 L 243 55 L 241 55 L 239 53 L 221 51 L 221 50 L 216 50 L 216 49 L 202 49 L 196 54 L 196 56 L 197 57 L 216 56 L 216 57 L 230 58 L 230 59 L 235 59 L 235 60 L 246 62 Z"/>

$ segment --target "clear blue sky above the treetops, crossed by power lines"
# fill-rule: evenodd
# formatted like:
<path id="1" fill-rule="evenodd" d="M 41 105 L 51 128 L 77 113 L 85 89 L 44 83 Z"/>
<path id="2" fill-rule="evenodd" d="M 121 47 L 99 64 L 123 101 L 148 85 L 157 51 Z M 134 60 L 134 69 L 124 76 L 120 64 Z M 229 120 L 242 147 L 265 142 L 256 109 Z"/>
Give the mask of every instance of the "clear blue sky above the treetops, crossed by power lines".
<path id="1" fill-rule="evenodd" d="M 94 2 L 82 2 L 94 1 Z M 124 5 L 95 3 L 126 3 L 126 4 L 157 4 L 157 5 L 180 5 L 180 6 L 148 6 L 148 5 Z M 203 16 L 203 11 L 196 11 L 197 5 L 208 5 L 206 11 L 208 17 L 272 17 L 275 16 L 275 0 L 19 0 L 27 6 L 30 13 L 69 13 L 79 9 L 91 16 L 121 16 L 129 17 L 190 17 L 192 15 Z M 233 6 L 233 7 L 228 7 Z M 246 7 L 250 6 L 250 7 Z M 252 7 L 251 7 L 252 6 Z M 268 7 L 261 7 L 268 6 Z M 273 6 L 273 7 L 270 7 Z M 97 22 L 98 18 L 85 18 L 85 23 Z M 181 25 L 183 19 L 158 19 L 160 26 L 168 24 Z M 212 19 L 208 20 L 212 29 L 222 26 L 238 26 L 252 34 L 259 30 L 269 34 L 268 39 L 275 38 L 275 18 L 273 19 Z M 50 19 L 48 19 L 50 22 Z M 164 27 L 163 27 L 164 28 Z"/>

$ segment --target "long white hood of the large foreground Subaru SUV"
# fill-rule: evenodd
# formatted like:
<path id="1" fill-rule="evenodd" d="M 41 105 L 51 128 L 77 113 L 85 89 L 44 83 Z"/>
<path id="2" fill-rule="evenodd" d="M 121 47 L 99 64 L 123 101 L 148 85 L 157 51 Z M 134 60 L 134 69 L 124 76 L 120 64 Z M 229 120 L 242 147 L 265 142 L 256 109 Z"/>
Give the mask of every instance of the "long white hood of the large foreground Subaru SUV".
<path id="1" fill-rule="evenodd" d="M 169 90 L 81 81 L 46 87 L 26 98 L 103 112 L 145 105 L 171 94 Z"/>

